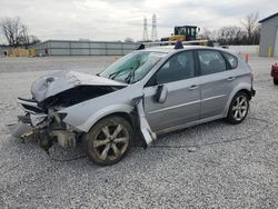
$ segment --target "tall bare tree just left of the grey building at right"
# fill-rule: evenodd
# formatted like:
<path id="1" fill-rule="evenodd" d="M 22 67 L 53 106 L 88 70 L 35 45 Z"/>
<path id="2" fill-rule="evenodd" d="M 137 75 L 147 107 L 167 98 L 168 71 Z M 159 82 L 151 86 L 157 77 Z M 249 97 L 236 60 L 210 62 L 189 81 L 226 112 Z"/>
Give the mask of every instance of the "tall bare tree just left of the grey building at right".
<path id="1" fill-rule="evenodd" d="M 255 33 L 258 30 L 258 18 L 259 13 L 250 13 L 248 14 L 242 21 L 241 24 L 244 26 L 246 32 L 247 32 L 247 39 L 249 44 L 255 44 Z"/>

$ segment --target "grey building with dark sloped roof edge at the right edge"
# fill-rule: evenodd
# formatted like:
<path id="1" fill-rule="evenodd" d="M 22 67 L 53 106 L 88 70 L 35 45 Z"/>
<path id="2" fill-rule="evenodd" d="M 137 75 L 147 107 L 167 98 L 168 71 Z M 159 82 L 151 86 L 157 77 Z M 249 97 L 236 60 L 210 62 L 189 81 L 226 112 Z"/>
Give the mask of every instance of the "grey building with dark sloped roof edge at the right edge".
<path id="1" fill-rule="evenodd" d="M 261 23 L 259 56 L 278 57 L 278 12 L 259 21 Z"/>

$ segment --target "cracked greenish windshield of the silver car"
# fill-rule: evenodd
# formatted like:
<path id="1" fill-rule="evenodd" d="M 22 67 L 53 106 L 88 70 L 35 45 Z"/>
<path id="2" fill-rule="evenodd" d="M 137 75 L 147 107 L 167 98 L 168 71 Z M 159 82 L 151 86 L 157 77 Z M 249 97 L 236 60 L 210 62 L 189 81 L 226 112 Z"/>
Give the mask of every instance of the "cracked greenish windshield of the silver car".
<path id="1" fill-rule="evenodd" d="M 140 51 L 125 56 L 99 73 L 100 77 L 109 78 L 128 83 L 141 80 L 158 63 L 166 53 Z"/>

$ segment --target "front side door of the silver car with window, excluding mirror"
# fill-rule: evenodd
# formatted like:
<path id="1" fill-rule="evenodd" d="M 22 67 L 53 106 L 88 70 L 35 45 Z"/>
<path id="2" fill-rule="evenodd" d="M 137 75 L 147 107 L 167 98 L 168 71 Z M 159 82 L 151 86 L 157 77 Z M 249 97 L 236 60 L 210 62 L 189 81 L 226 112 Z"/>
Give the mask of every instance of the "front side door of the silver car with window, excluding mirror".
<path id="1" fill-rule="evenodd" d="M 199 119 L 200 83 L 192 51 L 173 54 L 143 89 L 145 113 L 153 131 Z M 167 90 L 165 102 L 157 100 L 159 88 Z"/>

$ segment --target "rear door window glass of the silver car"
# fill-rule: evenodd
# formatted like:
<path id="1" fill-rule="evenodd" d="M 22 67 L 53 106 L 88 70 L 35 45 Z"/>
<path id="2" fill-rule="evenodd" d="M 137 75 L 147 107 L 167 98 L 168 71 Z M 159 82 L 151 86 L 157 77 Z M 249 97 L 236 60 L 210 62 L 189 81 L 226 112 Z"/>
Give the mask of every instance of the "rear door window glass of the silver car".
<path id="1" fill-rule="evenodd" d="M 227 70 L 226 61 L 220 52 L 212 50 L 198 51 L 201 76 Z"/>

